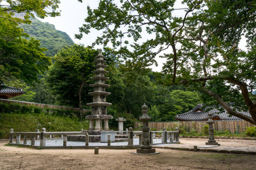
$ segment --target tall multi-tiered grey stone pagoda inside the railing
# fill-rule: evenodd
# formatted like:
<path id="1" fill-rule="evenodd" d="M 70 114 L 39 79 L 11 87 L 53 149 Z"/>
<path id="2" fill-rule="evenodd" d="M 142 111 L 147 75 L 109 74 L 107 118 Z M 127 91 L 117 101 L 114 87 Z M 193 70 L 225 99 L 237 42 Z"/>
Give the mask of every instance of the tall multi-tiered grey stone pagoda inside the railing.
<path id="1" fill-rule="evenodd" d="M 89 119 L 89 134 L 91 135 L 100 135 L 100 130 L 108 130 L 108 119 L 112 119 L 112 115 L 107 115 L 107 106 L 110 106 L 111 103 L 106 102 L 106 96 L 111 94 L 106 92 L 106 87 L 110 86 L 106 84 L 106 80 L 109 79 L 105 77 L 107 71 L 104 55 L 102 55 L 102 50 L 99 50 L 99 55 L 95 57 L 96 59 L 96 70 L 94 73 L 95 77 L 91 79 L 95 80 L 94 84 L 90 84 L 94 88 L 94 91 L 90 92 L 93 96 L 93 102 L 87 103 L 88 106 L 91 106 L 91 115 L 87 115 L 85 118 Z M 104 120 L 104 123 L 102 121 Z M 104 128 L 102 128 L 102 124 Z M 94 126 L 95 125 L 95 126 Z"/>

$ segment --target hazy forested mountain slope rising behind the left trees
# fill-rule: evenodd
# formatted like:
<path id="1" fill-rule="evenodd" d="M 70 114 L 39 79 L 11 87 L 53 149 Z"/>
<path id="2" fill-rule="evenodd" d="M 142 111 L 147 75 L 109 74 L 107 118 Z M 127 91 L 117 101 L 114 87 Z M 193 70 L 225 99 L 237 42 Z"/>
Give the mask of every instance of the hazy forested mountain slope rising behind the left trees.
<path id="1" fill-rule="evenodd" d="M 40 47 L 47 49 L 45 55 L 53 57 L 62 47 L 74 45 L 74 42 L 67 33 L 56 30 L 50 23 L 43 23 L 36 18 L 31 18 L 30 24 L 23 24 L 20 27 L 30 35 L 30 38 L 40 40 Z"/>

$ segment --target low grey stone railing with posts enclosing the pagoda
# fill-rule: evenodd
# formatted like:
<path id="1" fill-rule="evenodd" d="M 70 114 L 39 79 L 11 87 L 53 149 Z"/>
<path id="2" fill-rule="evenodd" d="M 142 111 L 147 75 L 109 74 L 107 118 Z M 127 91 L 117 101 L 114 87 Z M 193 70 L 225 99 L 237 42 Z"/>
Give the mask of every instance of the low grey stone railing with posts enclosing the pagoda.
<path id="1" fill-rule="evenodd" d="M 137 148 L 140 147 L 142 144 L 142 131 L 133 131 L 133 128 L 129 128 L 129 130 L 123 131 L 123 135 L 128 135 L 128 143 L 124 143 L 122 146 L 121 145 L 111 145 L 111 142 L 114 140 L 112 139 L 114 134 L 116 134 L 115 131 L 110 131 L 109 134 L 108 132 L 104 132 L 104 135 L 106 137 L 104 142 L 107 142 L 107 145 L 100 145 L 100 147 L 113 147 L 113 148 Z M 118 131 L 119 132 L 119 131 Z M 106 134 L 105 134 L 106 133 Z M 113 134 L 114 133 L 114 134 Z M 179 130 L 175 131 L 167 131 L 167 130 L 162 130 L 162 131 L 150 131 L 150 142 L 151 145 L 154 145 L 153 140 L 155 139 L 155 134 L 161 134 L 162 135 L 162 140 L 160 143 L 169 143 L 169 144 L 178 144 L 179 143 Z M 84 135 L 85 136 L 85 143 L 84 145 L 81 146 L 81 143 L 75 146 L 67 146 L 67 136 L 68 135 Z M 102 136 L 104 136 L 102 135 Z M 57 138 L 52 139 L 52 137 L 55 136 Z M 9 144 L 10 145 L 23 145 L 23 146 L 31 146 L 31 147 L 38 147 L 38 148 L 65 148 L 65 147 L 74 147 L 74 148 L 94 148 L 96 145 L 89 146 L 89 136 L 93 135 L 88 135 L 87 132 L 79 131 L 79 132 L 46 132 L 45 128 L 42 129 L 41 132 L 39 130 L 37 132 L 13 132 L 13 129 L 11 129 L 10 132 L 10 140 Z M 139 139 L 135 140 L 139 137 Z M 16 142 L 13 142 L 13 140 L 16 138 Z M 21 139 L 23 139 L 23 142 L 21 142 Z M 28 144 L 28 139 L 30 140 L 30 145 Z M 62 142 L 62 146 L 60 146 L 60 143 L 58 145 L 47 145 L 46 141 L 47 140 L 60 140 Z M 138 141 L 139 140 L 139 141 Z M 135 142 L 134 142 L 135 141 Z M 39 142 L 39 143 L 38 143 Z M 102 143 L 102 141 L 101 141 Z M 48 143 L 49 144 L 49 143 Z M 159 144 L 159 143 L 157 143 Z"/>

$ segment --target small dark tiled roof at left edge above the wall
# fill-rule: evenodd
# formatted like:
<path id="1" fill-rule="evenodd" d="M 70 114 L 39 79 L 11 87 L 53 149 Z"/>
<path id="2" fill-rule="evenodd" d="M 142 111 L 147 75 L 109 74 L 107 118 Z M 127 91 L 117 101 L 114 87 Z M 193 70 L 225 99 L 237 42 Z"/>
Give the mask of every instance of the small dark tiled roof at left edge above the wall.
<path id="1" fill-rule="evenodd" d="M 0 98 L 11 98 L 21 94 L 24 94 L 22 89 L 17 89 L 10 86 L 1 86 L 0 89 Z"/>

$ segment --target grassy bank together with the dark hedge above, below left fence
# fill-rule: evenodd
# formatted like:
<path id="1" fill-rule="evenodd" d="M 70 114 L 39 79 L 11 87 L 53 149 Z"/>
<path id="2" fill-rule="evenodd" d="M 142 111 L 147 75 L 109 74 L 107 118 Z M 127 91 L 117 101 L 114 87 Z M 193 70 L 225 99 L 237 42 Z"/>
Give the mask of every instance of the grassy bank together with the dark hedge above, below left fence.
<path id="1" fill-rule="evenodd" d="M 80 131 L 88 129 L 89 122 L 79 121 L 79 112 L 52 108 L 0 103 L 0 138 L 8 138 L 11 128 L 16 132 Z"/>

